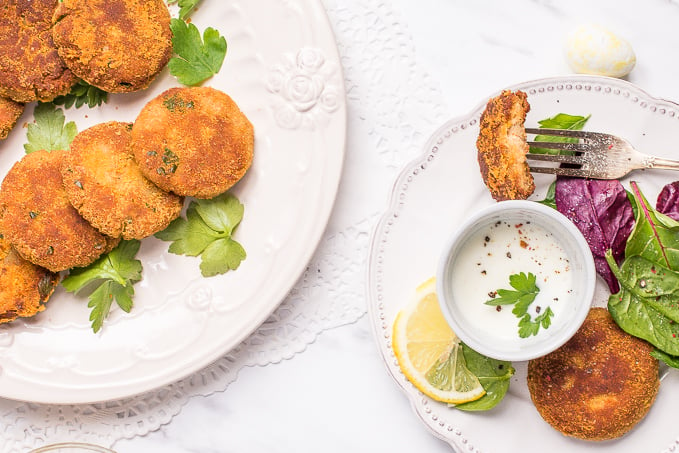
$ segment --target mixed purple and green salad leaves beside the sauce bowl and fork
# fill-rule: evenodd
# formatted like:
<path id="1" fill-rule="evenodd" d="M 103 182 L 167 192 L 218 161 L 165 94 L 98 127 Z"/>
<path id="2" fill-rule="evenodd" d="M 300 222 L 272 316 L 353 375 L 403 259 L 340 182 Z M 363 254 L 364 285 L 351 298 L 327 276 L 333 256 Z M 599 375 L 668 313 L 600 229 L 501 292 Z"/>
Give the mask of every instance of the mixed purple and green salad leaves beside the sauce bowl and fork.
<path id="1" fill-rule="evenodd" d="M 588 117 L 563 118 L 561 126 L 582 128 Z M 557 177 L 543 203 L 583 233 L 611 291 L 615 322 L 679 368 L 679 181 L 666 185 L 653 207 L 634 181 L 628 191 L 618 180 Z"/>

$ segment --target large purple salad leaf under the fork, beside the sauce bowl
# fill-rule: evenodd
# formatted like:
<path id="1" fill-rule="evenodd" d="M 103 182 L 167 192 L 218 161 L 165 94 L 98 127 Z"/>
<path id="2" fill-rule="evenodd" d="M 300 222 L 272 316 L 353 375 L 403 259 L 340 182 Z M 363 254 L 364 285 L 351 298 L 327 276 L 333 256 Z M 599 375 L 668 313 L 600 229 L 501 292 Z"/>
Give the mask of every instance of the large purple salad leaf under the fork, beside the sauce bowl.
<path id="1" fill-rule="evenodd" d="M 634 227 L 634 211 L 620 181 L 562 178 L 556 182 L 556 208 L 582 232 L 594 256 L 597 273 L 612 294 L 620 290 L 606 262 L 606 250 L 620 265 L 625 245 Z"/>

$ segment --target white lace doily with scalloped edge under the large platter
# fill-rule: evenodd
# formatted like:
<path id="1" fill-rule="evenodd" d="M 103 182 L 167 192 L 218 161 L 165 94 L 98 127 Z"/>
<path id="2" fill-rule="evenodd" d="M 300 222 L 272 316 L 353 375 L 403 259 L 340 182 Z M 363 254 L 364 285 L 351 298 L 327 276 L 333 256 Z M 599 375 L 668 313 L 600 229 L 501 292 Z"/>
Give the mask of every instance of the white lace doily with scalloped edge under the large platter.
<path id="1" fill-rule="evenodd" d="M 323 3 L 343 63 L 347 154 L 328 228 L 288 297 L 237 348 L 174 384 L 100 404 L 0 400 L 2 451 L 66 440 L 111 446 L 144 435 L 169 423 L 190 398 L 225 390 L 244 366 L 292 358 L 324 330 L 365 314 L 365 264 L 377 215 L 398 170 L 419 153 L 445 109 L 438 87 L 417 65 L 408 30 L 388 2 Z"/>

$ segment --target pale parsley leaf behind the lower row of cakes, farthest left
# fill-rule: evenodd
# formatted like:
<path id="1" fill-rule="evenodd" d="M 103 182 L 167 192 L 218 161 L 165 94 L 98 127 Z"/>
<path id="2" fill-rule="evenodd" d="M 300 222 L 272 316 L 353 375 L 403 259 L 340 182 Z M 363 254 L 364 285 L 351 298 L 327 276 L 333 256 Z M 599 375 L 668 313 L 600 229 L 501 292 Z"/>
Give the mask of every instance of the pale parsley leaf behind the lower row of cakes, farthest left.
<path id="1" fill-rule="evenodd" d="M 26 154 L 41 149 L 47 151 L 67 150 L 78 133 L 78 127 L 73 121 L 66 123 L 64 111 L 53 104 L 39 103 L 33 110 L 35 121 L 28 125 L 26 137 L 28 143 L 24 145 Z"/>

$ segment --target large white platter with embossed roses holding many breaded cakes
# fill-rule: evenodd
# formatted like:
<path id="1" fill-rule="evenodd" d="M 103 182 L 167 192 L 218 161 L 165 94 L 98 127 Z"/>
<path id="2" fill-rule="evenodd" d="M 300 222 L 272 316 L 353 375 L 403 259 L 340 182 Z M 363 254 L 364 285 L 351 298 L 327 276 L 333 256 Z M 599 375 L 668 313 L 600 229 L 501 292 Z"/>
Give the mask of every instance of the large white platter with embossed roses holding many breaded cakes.
<path id="1" fill-rule="evenodd" d="M 247 259 L 202 278 L 199 259 L 142 241 L 143 280 L 128 315 L 113 309 L 99 334 L 86 296 L 59 288 L 33 319 L 0 327 L 0 396 L 44 403 L 119 399 L 183 378 L 237 346 L 304 271 L 334 204 L 344 160 L 346 104 L 336 43 L 318 0 L 205 0 L 192 15 L 228 41 L 219 74 L 204 85 L 230 94 L 255 127 L 255 157 L 232 189 L 245 205 L 235 239 Z M 143 92 L 66 111 L 78 130 L 134 121 L 178 85 L 167 72 Z M 0 143 L 0 176 L 24 154 L 29 105 Z M 188 201 L 187 201 L 188 203 Z"/>

